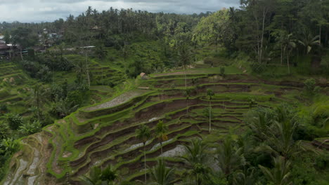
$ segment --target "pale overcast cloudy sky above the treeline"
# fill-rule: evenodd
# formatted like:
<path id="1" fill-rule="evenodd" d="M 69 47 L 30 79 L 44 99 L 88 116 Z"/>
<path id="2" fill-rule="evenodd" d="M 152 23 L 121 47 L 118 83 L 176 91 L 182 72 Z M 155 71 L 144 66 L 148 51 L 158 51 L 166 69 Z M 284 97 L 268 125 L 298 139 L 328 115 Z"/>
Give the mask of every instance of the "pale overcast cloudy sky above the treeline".
<path id="1" fill-rule="evenodd" d="M 79 15 L 88 6 L 98 11 L 133 8 L 149 12 L 201 13 L 238 7 L 239 0 L 0 0 L 0 22 L 46 22 Z"/>

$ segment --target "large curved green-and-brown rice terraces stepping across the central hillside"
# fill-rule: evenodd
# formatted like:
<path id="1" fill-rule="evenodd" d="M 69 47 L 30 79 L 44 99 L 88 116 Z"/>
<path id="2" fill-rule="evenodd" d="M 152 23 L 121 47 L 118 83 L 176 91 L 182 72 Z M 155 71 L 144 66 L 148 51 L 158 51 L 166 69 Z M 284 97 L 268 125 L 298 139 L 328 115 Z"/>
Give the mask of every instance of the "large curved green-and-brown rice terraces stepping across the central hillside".
<path id="1" fill-rule="evenodd" d="M 250 99 L 258 106 L 271 107 L 296 100 L 302 88 L 299 83 L 262 81 L 246 74 L 221 78 L 195 71 L 187 75 L 186 82 L 192 92 L 188 99 L 184 74 L 139 80 L 134 90 L 79 109 L 43 132 L 22 139 L 23 149 L 29 152 L 16 154 L 4 184 L 18 184 L 22 179 L 32 184 L 79 184 L 79 176 L 94 165 L 112 165 L 127 180 L 142 179 L 143 144 L 136 139 L 135 130 L 141 124 L 154 130 L 160 120 L 169 126 L 169 140 L 162 144 L 164 160 L 180 169 L 183 163 L 174 157 L 182 155 L 182 145 L 188 139 L 203 137 L 221 142 L 229 130 L 243 129 L 243 114 L 250 109 Z M 211 134 L 209 122 L 202 115 L 209 106 L 207 89 L 215 93 Z M 103 86 L 91 90 L 106 92 Z M 158 156 L 160 144 L 153 137 L 146 143 L 147 165 L 155 165 Z"/>

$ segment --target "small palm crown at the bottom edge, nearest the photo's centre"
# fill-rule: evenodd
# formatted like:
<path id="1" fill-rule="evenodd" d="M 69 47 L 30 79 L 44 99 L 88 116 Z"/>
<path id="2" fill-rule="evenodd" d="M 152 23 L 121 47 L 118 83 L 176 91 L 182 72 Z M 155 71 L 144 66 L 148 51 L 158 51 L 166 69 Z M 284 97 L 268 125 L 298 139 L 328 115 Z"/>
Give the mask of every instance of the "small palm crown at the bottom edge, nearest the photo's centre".
<path id="1" fill-rule="evenodd" d="M 169 168 L 164 165 L 163 160 L 157 160 L 157 165 L 150 168 L 150 178 L 153 180 L 154 185 L 170 185 L 173 184 L 174 168 Z"/>

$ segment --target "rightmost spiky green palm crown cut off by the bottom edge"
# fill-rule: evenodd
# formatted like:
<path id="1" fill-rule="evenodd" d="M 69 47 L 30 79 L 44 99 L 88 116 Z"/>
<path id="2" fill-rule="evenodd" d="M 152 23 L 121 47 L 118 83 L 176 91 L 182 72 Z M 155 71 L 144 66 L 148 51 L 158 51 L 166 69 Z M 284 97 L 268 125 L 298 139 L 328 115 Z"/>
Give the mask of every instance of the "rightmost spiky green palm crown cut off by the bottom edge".
<path id="1" fill-rule="evenodd" d="M 259 168 L 264 173 L 266 179 L 273 182 L 276 185 L 288 185 L 292 184 L 290 181 L 290 161 L 286 161 L 283 156 L 278 156 L 273 158 L 273 169 L 258 165 Z"/>

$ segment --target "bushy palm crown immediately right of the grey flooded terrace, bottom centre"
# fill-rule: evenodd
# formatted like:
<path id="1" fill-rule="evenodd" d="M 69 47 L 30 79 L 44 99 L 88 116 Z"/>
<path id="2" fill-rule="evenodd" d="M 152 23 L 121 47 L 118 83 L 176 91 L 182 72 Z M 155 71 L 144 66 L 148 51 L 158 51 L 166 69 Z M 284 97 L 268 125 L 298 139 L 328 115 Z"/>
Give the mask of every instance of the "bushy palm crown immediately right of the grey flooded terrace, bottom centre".
<path id="1" fill-rule="evenodd" d="M 207 163 L 208 145 L 202 139 L 192 139 L 189 144 L 184 144 L 186 155 L 181 158 L 190 168 L 190 174 L 195 177 L 195 184 L 202 184 L 202 182 L 209 179 L 209 167 Z"/>

